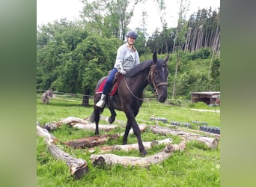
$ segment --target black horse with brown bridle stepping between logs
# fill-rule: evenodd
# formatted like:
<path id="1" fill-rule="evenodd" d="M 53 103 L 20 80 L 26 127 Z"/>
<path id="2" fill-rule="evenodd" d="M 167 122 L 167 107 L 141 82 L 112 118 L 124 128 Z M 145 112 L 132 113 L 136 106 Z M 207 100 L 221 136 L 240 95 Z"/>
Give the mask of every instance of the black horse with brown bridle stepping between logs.
<path id="1" fill-rule="evenodd" d="M 127 126 L 124 133 L 123 144 L 127 144 L 127 137 L 129 130 L 132 128 L 133 132 L 138 140 L 138 149 L 142 156 L 147 154 L 144 149 L 144 145 L 141 141 L 141 132 L 138 128 L 138 123 L 135 120 L 138 110 L 143 102 L 143 91 L 144 88 L 149 84 L 154 88 L 157 94 L 157 99 L 159 102 L 165 102 L 167 98 L 167 63 L 169 55 L 165 60 L 157 59 L 156 52 L 153 53 L 153 60 L 147 60 L 136 67 L 133 67 L 118 85 L 118 91 L 113 96 L 107 96 L 106 105 L 108 105 L 111 111 L 111 116 L 109 117 L 109 123 L 115 121 L 115 109 L 119 111 L 124 111 L 127 116 Z M 99 88 L 101 82 L 103 82 L 103 77 L 97 83 L 94 92 L 94 103 L 97 103 L 100 99 L 101 93 L 96 93 L 97 88 Z M 103 108 L 99 108 L 94 105 L 94 121 L 96 123 L 95 135 L 99 134 L 99 120 L 100 114 L 103 112 Z"/>

